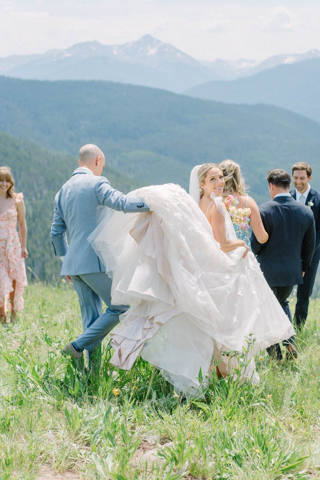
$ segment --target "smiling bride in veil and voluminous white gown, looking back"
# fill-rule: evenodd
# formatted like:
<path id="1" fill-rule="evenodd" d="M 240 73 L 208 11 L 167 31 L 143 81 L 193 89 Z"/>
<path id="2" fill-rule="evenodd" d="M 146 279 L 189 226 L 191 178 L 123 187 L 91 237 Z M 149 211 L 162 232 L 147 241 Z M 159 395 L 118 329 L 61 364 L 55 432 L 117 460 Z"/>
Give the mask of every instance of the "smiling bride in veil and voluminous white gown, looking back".
<path id="1" fill-rule="evenodd" d="M 224 375 L 240 372 L 236 357 L 221 352 L 241 355 L 253 338 L 241 374 L 258 384 L 254 354 L 295 333 L 216 196 L 223 176 L 219 170 L 215 182 L 210 175 L 219 167 L 202 166 L 207 172 L 201 201 L 199 168 L 191 172 L 194 198 L 174 184 L 143 187 L 131 194 L 150 213 L 112 210 L 89 237 L 113 278 L 112 303 L 130 304 L 110 334 L 111 363 L 129 370 L 141 355 L 187 395 L 199 391 L 200 369 L 202 384 L 217 363 Z"/>

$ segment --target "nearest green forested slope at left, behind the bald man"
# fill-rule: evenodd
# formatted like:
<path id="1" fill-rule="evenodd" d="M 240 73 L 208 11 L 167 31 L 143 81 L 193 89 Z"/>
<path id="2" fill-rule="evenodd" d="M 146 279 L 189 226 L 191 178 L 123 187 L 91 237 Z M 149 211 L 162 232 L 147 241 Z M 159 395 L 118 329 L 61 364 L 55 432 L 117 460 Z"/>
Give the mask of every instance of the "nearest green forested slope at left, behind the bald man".
<path id="1" fill-rule="evenodd" d="M 63 183 L 78 167 L 77 157 L 50 152 L 28 141 L 17 140 L 0 132 L 0 165 L 12 170 L 17 192 L 24 193 L 27 212 L 28 265 L 41 280 L 59 276 L 61 263 L 54 256 L 50 239 L 54 198 Z M 137 187 L 137 181 L 107 167 L 104 173 L 122 192 Z M 140 183 L 141 184 L 141 183 Z M 35 279 L 27 269 L 28 277 Z"/>

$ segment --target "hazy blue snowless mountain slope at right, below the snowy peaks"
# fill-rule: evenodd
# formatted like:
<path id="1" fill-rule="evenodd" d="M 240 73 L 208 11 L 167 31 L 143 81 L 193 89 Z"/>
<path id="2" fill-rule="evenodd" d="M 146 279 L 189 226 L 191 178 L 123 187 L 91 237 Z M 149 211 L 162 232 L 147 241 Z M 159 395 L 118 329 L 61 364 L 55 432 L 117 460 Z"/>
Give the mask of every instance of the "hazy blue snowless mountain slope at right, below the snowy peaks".
<path id="1" fill-rule="evenodd" d="M 320 122 L 320 58 L 278 65 L 250 77 L 208 82 L 186 95 L 225 103 L 266 103 Z"/>

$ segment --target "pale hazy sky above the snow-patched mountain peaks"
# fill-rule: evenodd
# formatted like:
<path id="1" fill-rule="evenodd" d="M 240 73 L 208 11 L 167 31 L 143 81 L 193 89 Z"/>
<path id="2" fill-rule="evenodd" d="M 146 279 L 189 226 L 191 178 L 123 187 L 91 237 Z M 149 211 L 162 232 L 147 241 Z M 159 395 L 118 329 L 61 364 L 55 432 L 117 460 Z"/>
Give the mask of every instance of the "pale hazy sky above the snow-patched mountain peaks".
<path id="1" fill-rule="evenodd" d="M 149 34 L 200 60 L 320 49 L 320 0 L 0 0 L 0 57 Z"/>

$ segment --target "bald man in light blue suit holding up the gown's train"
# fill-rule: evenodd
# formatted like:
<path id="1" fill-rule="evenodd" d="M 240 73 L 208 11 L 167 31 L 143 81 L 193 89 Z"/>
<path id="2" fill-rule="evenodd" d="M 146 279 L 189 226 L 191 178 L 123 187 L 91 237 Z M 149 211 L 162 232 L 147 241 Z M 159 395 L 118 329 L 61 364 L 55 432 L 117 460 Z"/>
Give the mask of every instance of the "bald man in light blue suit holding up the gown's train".
<path id="1" fill-rule="evenodd" d="M 118 324 L 119 315 L 129 307 L 111 305 L 112 280 L 87 238 L 106 216 L 108 208 L 124 213 L 149 212 L 140 198 L 112 188 L 101 177 L 104 167 L 105 156 L 96 145 L 80 149 L 79 168 L 56 195 L 50 232 L 55 254 L 63 262 L 60 275 L 67 275 L 73 282 L 83 322 L 83 334 L 68 343 L 62 353 L 81 360 L 85 349 L 88 362 L 102 339 Z M 102 300 L 108 307 L 104 313 Z"/>

